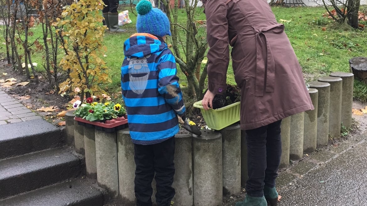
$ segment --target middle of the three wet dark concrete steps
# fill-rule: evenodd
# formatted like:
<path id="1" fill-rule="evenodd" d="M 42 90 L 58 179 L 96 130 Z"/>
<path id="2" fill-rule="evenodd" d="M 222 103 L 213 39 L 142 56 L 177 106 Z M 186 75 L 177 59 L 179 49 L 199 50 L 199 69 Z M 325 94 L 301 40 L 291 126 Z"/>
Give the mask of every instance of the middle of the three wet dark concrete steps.
<path id="1" fill-rule="evenodd" d="M 77 177 L 81 161 L 70 149 L 53 148 L 0 161 L 0 199 Z"/>

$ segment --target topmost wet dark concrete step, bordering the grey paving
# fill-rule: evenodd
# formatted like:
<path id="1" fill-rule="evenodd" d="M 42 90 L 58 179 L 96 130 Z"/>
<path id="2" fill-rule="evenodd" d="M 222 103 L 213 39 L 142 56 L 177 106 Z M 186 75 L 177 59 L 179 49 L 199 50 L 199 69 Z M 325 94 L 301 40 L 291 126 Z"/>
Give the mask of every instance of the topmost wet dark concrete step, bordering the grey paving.
<path id="1" fill-rule="evenodd" d="M 60 147 L 61 131 L 43 119 L 0 125 L 0 159 Z"/>

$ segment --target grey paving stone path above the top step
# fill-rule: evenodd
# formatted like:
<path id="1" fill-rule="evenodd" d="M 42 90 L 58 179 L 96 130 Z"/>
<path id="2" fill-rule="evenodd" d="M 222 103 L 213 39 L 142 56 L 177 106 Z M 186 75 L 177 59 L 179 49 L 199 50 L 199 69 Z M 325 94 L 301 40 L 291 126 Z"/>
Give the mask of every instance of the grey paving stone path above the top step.
<path id="1" fill-rule="evenodd" d="M 0 88 L 0 125 L 41 118 Z"/>

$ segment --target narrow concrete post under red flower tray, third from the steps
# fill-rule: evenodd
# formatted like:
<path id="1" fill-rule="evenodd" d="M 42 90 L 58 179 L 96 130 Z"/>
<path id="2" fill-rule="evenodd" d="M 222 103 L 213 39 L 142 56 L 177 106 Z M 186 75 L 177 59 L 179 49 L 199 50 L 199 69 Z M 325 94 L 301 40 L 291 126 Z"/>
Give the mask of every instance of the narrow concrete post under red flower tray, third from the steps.
<path id="1" fill-rule="evenodd" d="M 97 179 L 95 129 L 87 126 L 84 126 L 84 151 L 86 156 L 87 177 L 91 179 Z"/>

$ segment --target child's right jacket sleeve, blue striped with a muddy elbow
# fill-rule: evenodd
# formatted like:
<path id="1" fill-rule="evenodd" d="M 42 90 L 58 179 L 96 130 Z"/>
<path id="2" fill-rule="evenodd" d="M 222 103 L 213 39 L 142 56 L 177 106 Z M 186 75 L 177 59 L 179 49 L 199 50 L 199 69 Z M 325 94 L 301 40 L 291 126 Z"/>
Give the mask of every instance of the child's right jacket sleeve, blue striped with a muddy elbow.
<path id="1" fill-rule="evenodd" d="M 183 116 L 186 108 L 178 83 L 176 60 L 169 49 L 166 49 L 159 58 L 157 68 L 159 71 L 158 92 L 178 115 Z"/>

